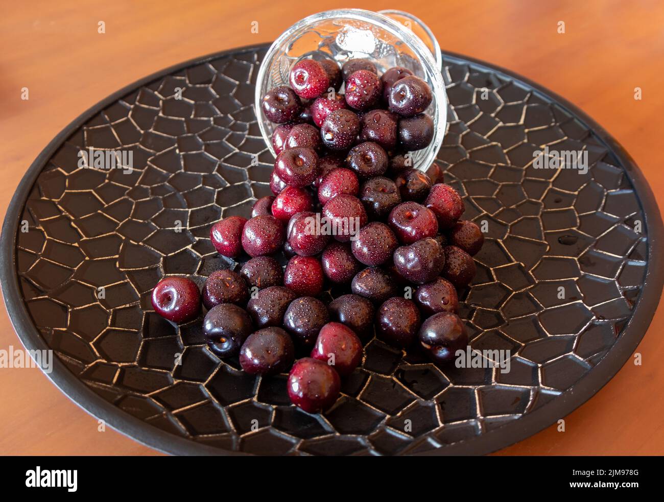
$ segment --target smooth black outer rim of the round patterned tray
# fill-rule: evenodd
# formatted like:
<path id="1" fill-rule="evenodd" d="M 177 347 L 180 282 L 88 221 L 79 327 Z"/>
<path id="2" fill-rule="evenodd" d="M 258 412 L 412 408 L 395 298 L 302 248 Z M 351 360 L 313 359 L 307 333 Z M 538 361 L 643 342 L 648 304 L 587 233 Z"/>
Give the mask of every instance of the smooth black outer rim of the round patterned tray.
<path id="1" fill-rule="evenodd" d="M 66 127 L 64 127 L 64 129 L 62 129 L 48 143 L 48 145 L 42 149 L 41 153 L 37 155 L 35 161 L 33 161 L 25 175 L 23 175 L 11 202 L 7 207 L 2 226 L 2 233 L 0 234 L 0 252 L 7 258 L 11 257 L 11 259 L 2 260 L 0 263 L 0 285 L 2 287 L 5 306 L 7 307 L 11 324 L 26 349 L 41 350 L 48 349 L 49 347 L 46 345 L 44 339 L 42 339 L 37 327 L 34 325 L 27 312 L 27 308 L 25 307 L 21 295 L 19 295 L 20 284 L 16 269 L 17 256 L 15 253 L 15 243 L 21 212 L 23 207 L 25 207 L 25 202 L 27 201 L 31 188 L 37 180 L 37 177 L 39 177 L 39 173 L 41 173 L 44 165 L 48 162 L 48 159 L 52 157 L 58 147 L 60 147 L 60 145 L 62 145 L 62 143 L 64 143 L 64 141 L 70 137 L 78 127 L 82 126 L 87 120 L 93 118 L 110 104 L 116 102 L 126 94 L 133 92 L 137 88 L 149 84 L 158 78 L 163 78 L 173 72 L 189 68 L 190 66 L 203 64 L 210 60 L 222 58 L 230 54 L 264 50 L 268 48 L 268 46 L 270 46 L 269 42 L 266 44 L 252 44 L 238 48 L 230 48 L 180 62 L 140 78 L 88 108 L 77 118 L 72 120 L 70 124 L 66 125 Z M 620 143 L 618 143 L 618 141 L 614 139 L 604 127 L 588 116 L 588 114 L 562 96 L 559 96 L 555 92 L 551 92 L 544 86 L 537 84 L 537 82 L 533 82 L 533 80 L 512 72 L 511 70 L 502 68 L 501 66 L 487 63 L 469 56 L 463 56 L 456 52 L 444 51 L 443 59 L 463 65 L 472 64 L 483 70 L 500 72 L 511 78 L 511 80 L 525 84 L 525 86 L 532 90 L 544 94 L 544 96 L 547 96 L 550 100 L 564 108 L 566 112 L 584 122 L 584 125 L 588 126 L 622 163 L 625 174 L 637 193 L 639 206 L 641 207 L 645 219 L 648 237 L 647 272 L 643 278 L 643 288 L 635 303 L 636 306 L 629 321 L 627 321 L 625 327 L 623 327 L 621 337 L 616 343 L 614 343 L 614 345 L 612 345 L 600 362 L 586 373 L 586 376 L 582 377 L 578 382 L 562 392 L 560 396 L 513 422 L 508 422 L 495 430 L 484 432 L 469 440 L 463 440 L 461 442 L 446 445 L 443 448 L 436 448 L 419 454 L 424 456 L 484 455 L 501 448 L 506 448 L 507 446 L 511 446 L 516 442 L 533 436 L 534 434 L 537 434 L 537 432 L 540 432 L 540 430 L 544 430 L 544 428 L 554 424 L 559 418 L 563 418 L 570 414 L 570 412 L 592 398 L 592 396 L 607 384 L 616 373 L 622 369 L 625 363 L 627 363 L 631 353 L 633 353 L 645 336 L 647 328 L 655 315 L 657 305 L 660 301 L 662 287 L 664 285 L 664 258 L 659 258 L 659 255 L 655 254 L 653 250 L 663 243 L 664 225 L 653 191 L 635 161 L 633 161 L 622 145 L 620 145 Z M 90 387 L 74 375 L 74 373 L 72 373 L 59 358 L 54 358 L 53 365 L 53 371 L 50 374 L 46 374 L 43 371 L 42 373 L 44 373 L 44 375 L 46 375 L 46 377 L 70 400 L 95 418 L 98 418 L 98 420 L 104 420 L 104 422 L 108 426 L 114 428 L 114 430 L 117 430 L 121 434 L 124 434 L 145 446 L 154 448 L 159 452 L 176 455 L 249 455 L 244 452 L 234 452 L 215 448 L 204 443 L 195 442 L 189 438 L 183 438 L 171 434 L 170 432 L 166 432 L 157 426 L 153 426 L 148 422 L 132 416 L 121 408 L 118 408 L 118 406 L 105 400 L 99 394 L 96 394 L 90 389 Z"/>

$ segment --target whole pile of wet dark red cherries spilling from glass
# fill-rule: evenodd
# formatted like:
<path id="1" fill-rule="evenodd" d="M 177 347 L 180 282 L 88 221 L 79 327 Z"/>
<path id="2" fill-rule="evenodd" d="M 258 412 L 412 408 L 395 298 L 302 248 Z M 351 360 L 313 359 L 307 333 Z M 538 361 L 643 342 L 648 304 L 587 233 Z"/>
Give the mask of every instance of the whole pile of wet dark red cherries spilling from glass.
<path id="1" fill-rule="evenodd" d="M 436 163 L 426 173 L 410 166 L 408 152 L 434 134 L 423 113 L 432 102 L 426 82 L 400 67 L 379 77 L 369 60 L 339 68 L 305 59 L 290 84 L 263 100 L 268 120 L 280 124 L 274 197 L 259 199 L 249 220 L 229 216 L 210 230 L 220 254 L 251 258 L 239 273 L 210 274 L 202 294 L 189 278 L 164 278 L 152 304 L 185 323 L 202 302 L 210 350 L 239 355 L 252 375 L 290 369 L 291 401 L 313 413 L 337 400 L 340 377 L 361 363 L 374 332 L 436 363 L 465 349 L 457 290 L 475 275 L 472 255 L 484 238 L 459 219 L 463 201 Z M 285 270 L 270 256 L 278 252 L 290 258 Z M 325 305 L 326 283 L 347 294 Z"/>

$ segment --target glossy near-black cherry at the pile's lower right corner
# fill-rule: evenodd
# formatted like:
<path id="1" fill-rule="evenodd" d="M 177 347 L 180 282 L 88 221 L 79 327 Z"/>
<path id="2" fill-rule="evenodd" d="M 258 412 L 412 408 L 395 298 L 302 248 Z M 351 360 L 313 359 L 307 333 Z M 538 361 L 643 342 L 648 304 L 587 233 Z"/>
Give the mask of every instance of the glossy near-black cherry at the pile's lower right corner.
<path id="1" fill-rule="evenodd" d="M 465 351 L 468 345 L 461 317 L 450 312 L 440 312 L 426 319 L 418 339 L 426 355 L 436 363 L 449 363 L 456 357 L 456 351 Z"/>

